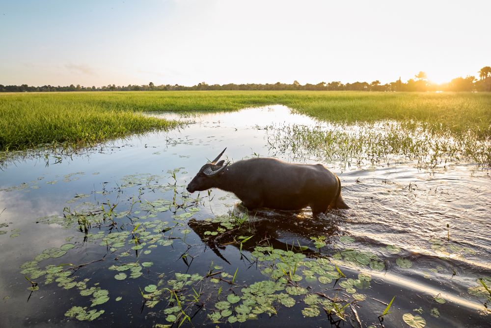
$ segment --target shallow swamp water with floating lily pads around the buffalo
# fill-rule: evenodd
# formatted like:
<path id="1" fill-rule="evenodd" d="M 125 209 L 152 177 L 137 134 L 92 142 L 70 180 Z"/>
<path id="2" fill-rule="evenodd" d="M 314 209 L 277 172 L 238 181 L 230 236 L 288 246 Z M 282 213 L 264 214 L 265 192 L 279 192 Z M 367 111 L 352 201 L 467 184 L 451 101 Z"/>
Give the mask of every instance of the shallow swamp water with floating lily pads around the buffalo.
<path id="1" fill-rule="evenodd" d="M 394 122 L 335 125 L 283 106 L 149 115 L 188 124 L 3 162 L 1 327 L 489 327 L 489 169 L 319 146 Z M 322 163 L 351 209 L 246 213 L 233 194 L 187 193 L 225 147 L 232 162 Z"/>

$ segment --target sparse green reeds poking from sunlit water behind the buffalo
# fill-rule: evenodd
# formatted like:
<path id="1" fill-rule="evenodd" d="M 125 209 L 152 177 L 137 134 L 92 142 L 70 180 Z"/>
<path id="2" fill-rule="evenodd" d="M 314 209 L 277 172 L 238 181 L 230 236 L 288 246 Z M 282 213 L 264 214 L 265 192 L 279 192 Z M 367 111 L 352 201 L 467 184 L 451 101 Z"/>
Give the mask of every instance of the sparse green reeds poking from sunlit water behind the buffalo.
<path id="1" fill-rule="evenodd" d="M 268 125 L 267 142 L 290 157 L 311 155 L 348 165 L 382 165 L 412 160 L 433 169 L 450 161 L 471 160 L 491 166 L 491 140 L 472 133 L 454 135 L 450 130 L 429 130 L 419 122 L 379 121 L 351 125 L 333 122 L 316 126 Z M 401 133 L 401 131 L 404 131 Z"/>

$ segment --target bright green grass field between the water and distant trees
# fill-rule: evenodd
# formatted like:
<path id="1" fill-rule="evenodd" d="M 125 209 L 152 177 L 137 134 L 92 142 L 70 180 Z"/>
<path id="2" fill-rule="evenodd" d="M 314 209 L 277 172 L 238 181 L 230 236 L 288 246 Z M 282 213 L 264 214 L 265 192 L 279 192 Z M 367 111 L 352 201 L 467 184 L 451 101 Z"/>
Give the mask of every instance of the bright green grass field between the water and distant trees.
<path id="1" fill-rule="evenodd" d="M 491 93 L 351 91 L 128 91 L 0 94 L 0 150 L 46 143 L 83 145 L 175 122 L 142 111 L 232 111 L 282 104 L 336 122 L 422 123 L 453 137 L 491 138 Z M 258 118 L 260 120 L 260 118 Z M 260 123 L 260 122 L 258 122 Z"/>

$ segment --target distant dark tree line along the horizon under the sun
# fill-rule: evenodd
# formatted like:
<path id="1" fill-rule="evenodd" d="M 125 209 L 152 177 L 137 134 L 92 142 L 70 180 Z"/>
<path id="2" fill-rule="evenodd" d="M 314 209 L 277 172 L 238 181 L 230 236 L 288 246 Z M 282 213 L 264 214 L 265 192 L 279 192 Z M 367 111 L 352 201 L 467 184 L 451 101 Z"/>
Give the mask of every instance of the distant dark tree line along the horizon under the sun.
<path id="1" fill-rule="evenodd" d="M 104 87 L 83 87 L 81 85 L 68 87 L 61 86 L 42 86 L 33 87 L 23 84 L 21 86 L 3 86 L 0 84 L 0 92 L 50 92 L 50 91 L 180 91 L 180 90 L 352 90 L 352 91 L 491 91 L 491 66 L 485 66 L 479 71 L 479 79 L 475 76 L 458 77 L 444 84 L 431 83 L 425 72 L 419 72 L 413 79 L 402 82 L 401 78 L 395 82 L 381 84 L 376 80 L 371 83 L 355 82 L 343 84 L 340 81 L 320 82 L 317 84 L 307 83 L 301 85 L 298 81 L 292 84 L 274 83 L 274 84 L 213 84 L 206 82 L 198 83 L 192 87 L 175 85 L 156 86 L 152 82 L 148 85 L 128 85 L 116 86 L 108 85 Z"/>

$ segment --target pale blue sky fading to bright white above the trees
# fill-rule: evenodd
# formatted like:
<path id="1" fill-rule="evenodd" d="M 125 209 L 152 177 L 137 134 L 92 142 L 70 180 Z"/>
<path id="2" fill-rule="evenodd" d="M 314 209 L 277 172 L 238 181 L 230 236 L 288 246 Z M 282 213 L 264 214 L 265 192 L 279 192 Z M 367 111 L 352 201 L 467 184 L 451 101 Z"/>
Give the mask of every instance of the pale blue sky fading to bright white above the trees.
<path id="1" fill-rule="evenodd" d="M 0 0 L 0 84 L 442 83 L 491 66 L 491 1 Z"/>

